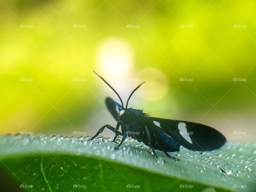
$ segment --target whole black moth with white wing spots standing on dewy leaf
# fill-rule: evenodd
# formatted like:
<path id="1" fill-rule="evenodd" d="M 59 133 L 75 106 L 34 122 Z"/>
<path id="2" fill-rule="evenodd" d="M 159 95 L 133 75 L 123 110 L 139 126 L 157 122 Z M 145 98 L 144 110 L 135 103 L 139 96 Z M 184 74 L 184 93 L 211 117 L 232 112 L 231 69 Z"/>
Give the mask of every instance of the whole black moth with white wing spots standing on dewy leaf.
<path id="1" fill-rule="evenodd" d="M 93 72 L 97 74 L 95 71 Z M 107 128 L 115 133 L 113 141 L 115 141 L 118 135 L 123 136 L 115 149 L 122 145 L 126 137 L 132 137 L 151 147 L 155 157 L 157 157 L 155 150 L 160 150 L 171 158 L 174 157 L 169 155 L 168 152 L 179 151 L 181 145 L 192 151 L 212 151 L 219 149 L 225 144 L 226 138 L 212 127 L 188 121 L 149 117 L 142 110 L 127 108 L 132 94 L 145 82 L 141 83 L 131 92 L 126 107 L 124 107 L 121 97 L 114 88 L 99 74 L 97 75 L 117 94 L 122 105 L 119 105 L 110 97 L 106 98 L 107 109 L 117 121 L 117 126 L 102 126 L 91 140 Z M 119 131 L 120 126 L 122 132 Z"/>

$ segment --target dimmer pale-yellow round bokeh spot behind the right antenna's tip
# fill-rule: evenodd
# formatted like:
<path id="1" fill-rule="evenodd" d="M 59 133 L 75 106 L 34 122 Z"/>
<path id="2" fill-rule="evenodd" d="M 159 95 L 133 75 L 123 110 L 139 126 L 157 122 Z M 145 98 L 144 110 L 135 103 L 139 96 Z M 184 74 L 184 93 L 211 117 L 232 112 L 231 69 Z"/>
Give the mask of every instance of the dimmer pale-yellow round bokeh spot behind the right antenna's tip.
<path id="1" fill-rule="evenodd" d="M 169 89 L 169 80 L 166 75 L 155 68 L 147 68 L 139 74 L 141 81 L 146 83 L 140 88 L 138 94 L 149 101 L 156 101 L 163 98 Z"/>

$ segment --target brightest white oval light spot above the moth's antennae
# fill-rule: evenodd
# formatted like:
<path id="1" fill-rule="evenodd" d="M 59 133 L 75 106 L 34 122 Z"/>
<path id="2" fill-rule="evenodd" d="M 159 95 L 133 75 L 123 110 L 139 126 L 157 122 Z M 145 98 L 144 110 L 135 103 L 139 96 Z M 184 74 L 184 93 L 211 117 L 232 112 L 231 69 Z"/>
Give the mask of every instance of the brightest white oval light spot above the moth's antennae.
<path id="1" fill-rule="evenodd" d="M 121 76 L 131 69 L 133 55 L 129 43 L 120 37 L 105 39 L 98 48 L 97 60 L 107 76 Z"/>

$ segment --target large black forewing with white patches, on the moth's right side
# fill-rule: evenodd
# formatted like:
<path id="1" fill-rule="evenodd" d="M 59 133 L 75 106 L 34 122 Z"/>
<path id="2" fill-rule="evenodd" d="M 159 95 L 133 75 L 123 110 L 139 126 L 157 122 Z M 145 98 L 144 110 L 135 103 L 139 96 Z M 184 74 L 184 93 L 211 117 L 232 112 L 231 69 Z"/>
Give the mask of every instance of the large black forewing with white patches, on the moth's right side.
<path id="1" fill-rule="evenodd" d="M 226 138 L 219 131 L 199 123 L 156 117 L 149 117 L 148 121 L 160 127 L 183 147 L 193 151 L 212 151 L 226 143 Z"/>

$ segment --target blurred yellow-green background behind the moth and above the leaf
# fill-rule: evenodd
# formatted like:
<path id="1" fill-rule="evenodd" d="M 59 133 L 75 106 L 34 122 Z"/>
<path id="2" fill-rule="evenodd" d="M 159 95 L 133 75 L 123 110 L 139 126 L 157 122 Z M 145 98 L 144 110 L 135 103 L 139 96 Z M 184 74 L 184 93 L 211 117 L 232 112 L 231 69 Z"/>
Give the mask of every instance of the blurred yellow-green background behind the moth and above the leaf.
<path id="1" fill-rule="evenodd" d="M 115 126 L 104 102 L 118 98 L 95 70 L 124 103 L 146 81 L 130 107 L 255 141 L 255 5 L 1 0 L 0 134 Z"/>

